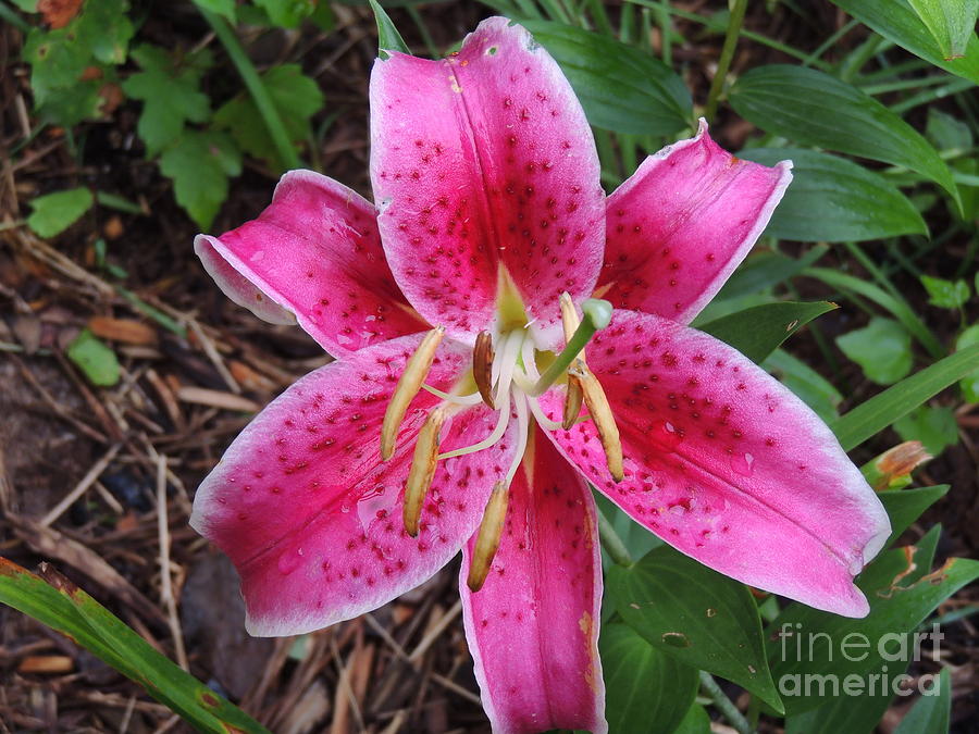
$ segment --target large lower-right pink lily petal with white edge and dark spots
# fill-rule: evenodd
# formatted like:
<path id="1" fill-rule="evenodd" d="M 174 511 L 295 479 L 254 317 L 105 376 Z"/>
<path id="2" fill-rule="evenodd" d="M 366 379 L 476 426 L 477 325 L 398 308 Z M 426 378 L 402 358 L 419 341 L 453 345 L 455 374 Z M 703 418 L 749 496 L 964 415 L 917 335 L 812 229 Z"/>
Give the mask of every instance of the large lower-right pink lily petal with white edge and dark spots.
<path id="1" fill-rule="evenodd" d="M 863 617 L 854 586 L 890 535 L 883 506 L 809 408 L 743 354 L 652 314 L 617 312 L 588 350 L 625 455 L 608 474 L 591 422 L 550 434 L 636 522 L 705 565 Z M 546 412 L 560 416 L 552 390 Z"/>

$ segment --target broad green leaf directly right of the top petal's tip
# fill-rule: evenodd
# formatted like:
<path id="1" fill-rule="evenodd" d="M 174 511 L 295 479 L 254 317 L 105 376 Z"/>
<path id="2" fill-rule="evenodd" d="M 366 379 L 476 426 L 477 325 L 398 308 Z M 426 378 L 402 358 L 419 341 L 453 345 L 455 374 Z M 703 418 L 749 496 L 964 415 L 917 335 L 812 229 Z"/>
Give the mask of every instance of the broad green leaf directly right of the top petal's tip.
<path id="1" fill-rule="evenodd" d="M 591 124 L 635 135 L 669 135 L 690 127 L 690 91 L 658 59 L 562 23 L 522 25 L 558 62 Z"/>

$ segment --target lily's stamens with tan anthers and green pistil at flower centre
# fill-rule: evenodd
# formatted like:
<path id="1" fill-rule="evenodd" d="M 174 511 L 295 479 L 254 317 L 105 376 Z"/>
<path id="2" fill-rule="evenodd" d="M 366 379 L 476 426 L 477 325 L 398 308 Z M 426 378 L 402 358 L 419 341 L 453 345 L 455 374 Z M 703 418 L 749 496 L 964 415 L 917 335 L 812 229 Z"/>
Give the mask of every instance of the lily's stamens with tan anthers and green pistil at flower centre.
<path id="1" fill-rule="evenodd" d="M 494 446 L 506 434 L 510 421 L 517 421 L 513 460 L 504 478 L 494 486 L 480 523 L 467 581 L 473 592 L 482 587 L 499 546 L 509 487 L 526 455 L 531 416 L 544 431 L 568 430 L 579 421 L 593 421 L 605 449 L 609 472 L 616 481 L 622 478 L 619 431 L 605 391 L 588 370 L 584 358 L 584 348 L 592 336 L 608 325 L 611 306 L 607 301 L 588 299 L 582 303 L 582 311 L 584 319 L 580 321 L 571 298 L 568 294 L 561 296 L 566 347 L 556 356 L 536 348 L 525 323 L 507 324 L 501 320 L 501 329 L 495 338 L 490 332 L 481 333 L 473 348 L 472 361 L 472 383 L 476 389 L 468 395 L 445 393 L 424 384 L 445 332 L 443 327 L 432 329 L 405 365 L 405 372 L 388 402 L 381 430 L 381 456 L 384 460 L 394 455 L 398 428 L 418 391 L 426 389 L 442 398 L 442 402 L 429 413 L 418 434 L 408 472 L 404 522 L 405 530 L 412 537 L 418 535 L 419 518 L 438 461 Z M 538 370 L 538 360 L 542 364 L 547 364 L 543 373 Z M 559 381 L 567 384 L 563 420 L 560 423 L 547 418 L 538 402 L 540 396 Z M 497 411 L 494 428 L 485 438 L 471 446 L 439 453 L 439 434 L 445 422 L 451 420 L 454 413 L 480 402 Z M 585 416 L 580 415 L 582 402 L 587 408 Z"/>

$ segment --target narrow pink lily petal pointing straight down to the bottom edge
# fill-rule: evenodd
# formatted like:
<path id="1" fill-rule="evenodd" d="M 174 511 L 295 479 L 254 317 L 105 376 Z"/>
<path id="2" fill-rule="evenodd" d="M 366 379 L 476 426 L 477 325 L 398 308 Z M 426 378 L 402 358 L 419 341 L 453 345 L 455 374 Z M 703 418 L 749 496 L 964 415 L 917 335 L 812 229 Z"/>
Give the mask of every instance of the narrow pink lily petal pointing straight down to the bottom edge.
<path id="1" fill-rule="evenodd" d="M 459 593 L 493 731 L 608 731 L 595 501 L 540 432 L 510 485 L 499 549 L 476 593 L 466 584 L 474 543 L 462 550 Z"/>

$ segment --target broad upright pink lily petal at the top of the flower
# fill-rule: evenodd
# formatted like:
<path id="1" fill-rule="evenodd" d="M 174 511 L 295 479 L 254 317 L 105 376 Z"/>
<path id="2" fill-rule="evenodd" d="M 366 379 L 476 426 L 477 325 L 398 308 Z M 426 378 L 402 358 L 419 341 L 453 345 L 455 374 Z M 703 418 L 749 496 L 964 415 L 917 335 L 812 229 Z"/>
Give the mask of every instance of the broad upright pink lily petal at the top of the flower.
<path id="1" fill-rule="evenodd" d="M 604 249 L 598 155 L 554 59 L 503 17 L 462 49 L 377 60 L 371 181 L 388 262 L 432 324 L 471 344 L 512 278 L 538 344 L 561 340 L 558 298 L 591 295 Z"/>

